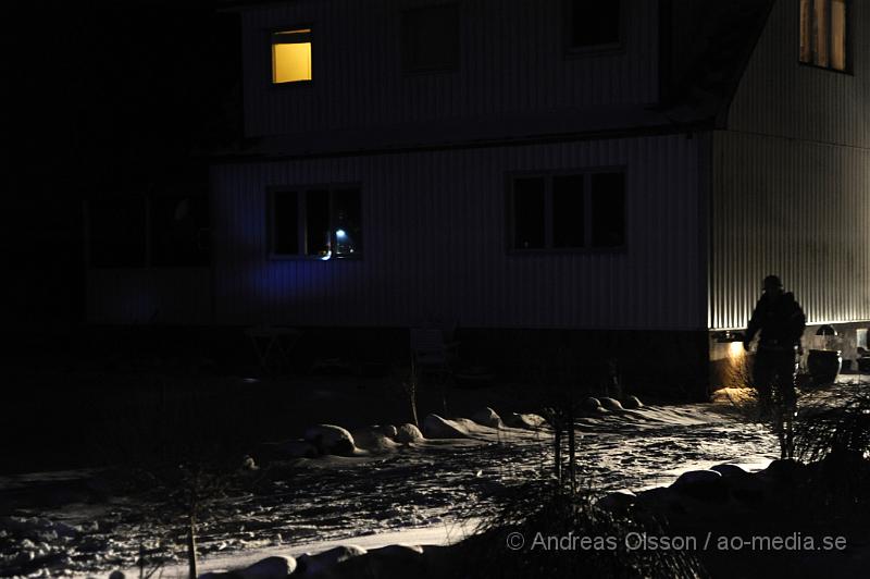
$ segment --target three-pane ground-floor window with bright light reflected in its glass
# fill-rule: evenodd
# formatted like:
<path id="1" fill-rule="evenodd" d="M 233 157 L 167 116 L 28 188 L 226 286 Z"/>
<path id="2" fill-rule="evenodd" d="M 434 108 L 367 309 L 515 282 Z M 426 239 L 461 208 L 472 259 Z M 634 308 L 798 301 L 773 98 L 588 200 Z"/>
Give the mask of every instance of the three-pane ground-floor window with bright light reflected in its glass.
<path id="1" fill-rule="evenodd" d="M 270 211 L 272 256 L 362 257 L 359 187 L 274 190 Z"/>

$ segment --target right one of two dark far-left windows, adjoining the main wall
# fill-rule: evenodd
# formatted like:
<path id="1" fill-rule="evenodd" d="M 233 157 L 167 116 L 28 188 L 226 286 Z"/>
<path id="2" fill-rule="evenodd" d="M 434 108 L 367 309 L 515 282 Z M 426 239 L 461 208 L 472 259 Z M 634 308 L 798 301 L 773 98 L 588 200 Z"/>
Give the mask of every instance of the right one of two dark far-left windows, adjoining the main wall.
<path id="1" fill-rule="evenodd" d="M 208 266 L 210 243 L 207 197 L 153 197 L 150 215 L 154 266 Z"/>

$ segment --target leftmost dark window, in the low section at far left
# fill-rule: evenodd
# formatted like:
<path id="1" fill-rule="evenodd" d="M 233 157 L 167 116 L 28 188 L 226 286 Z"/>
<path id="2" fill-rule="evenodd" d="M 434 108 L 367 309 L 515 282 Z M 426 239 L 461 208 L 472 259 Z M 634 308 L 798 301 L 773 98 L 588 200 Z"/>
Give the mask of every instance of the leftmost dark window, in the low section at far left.
<path id="1" fill-rule="evenodd" d="M 88 202 L 90 264 L 140 268 L 147 259 L 147 205 L 144 197 Z"/>

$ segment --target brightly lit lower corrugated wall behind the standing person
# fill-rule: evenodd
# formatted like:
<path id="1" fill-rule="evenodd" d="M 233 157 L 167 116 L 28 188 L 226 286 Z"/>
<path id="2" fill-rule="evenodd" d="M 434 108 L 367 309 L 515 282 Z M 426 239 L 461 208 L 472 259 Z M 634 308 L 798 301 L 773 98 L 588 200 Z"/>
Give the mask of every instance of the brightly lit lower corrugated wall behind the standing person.
<path id="1" fill-rule="evenodd" d="M 719 132 L 711 328 L 743 328 L 769 273 L 810 323 L 870 320 L 870 150 Z"/>

